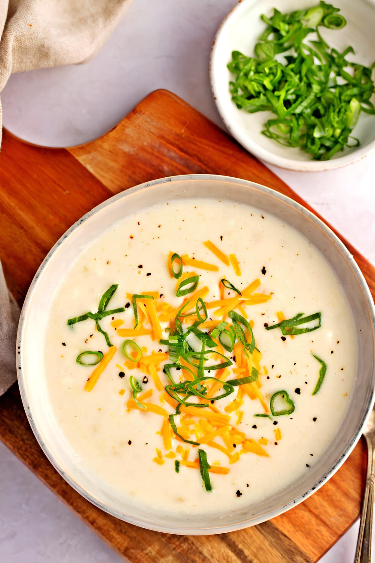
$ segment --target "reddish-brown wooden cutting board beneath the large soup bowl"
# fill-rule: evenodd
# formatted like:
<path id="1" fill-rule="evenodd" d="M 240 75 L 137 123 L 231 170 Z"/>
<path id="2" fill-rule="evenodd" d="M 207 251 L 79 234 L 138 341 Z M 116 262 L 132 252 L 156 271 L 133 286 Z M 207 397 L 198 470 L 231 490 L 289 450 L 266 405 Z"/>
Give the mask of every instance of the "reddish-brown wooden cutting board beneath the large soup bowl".
<path id="1" fill-rule="evenodd" d="M 130 186 L 186 173 L 245 178 L 309 208 L 231 137 L 163 90 L 147 96 L 107 135 L 79 148 L 38 148 L 4 132 L 0 258 L 8 287 L 20 305 L 46 253 L 85 212 Z M 374 296 L 375 269 L 340 238 L 353 253 Z M 0 398 L 0 439 L 96 534 L 134 563 L 317 561 L 358 517 L 365 480 L 366 453 L 361 440 L 326 485 L 284 515 L 229 534 L 173 536 L 126 524 L 76 493 L 40 450 L 17 384 Z"/>

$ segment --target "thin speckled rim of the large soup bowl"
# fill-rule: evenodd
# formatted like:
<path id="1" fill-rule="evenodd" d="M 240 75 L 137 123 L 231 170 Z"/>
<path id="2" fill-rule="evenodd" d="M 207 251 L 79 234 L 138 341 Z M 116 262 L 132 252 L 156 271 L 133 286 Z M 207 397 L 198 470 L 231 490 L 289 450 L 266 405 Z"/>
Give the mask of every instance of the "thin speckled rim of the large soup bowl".
<path id="1" fill-rule="evenodd" d="M 35 437 L 36 437 L 36 439 L 37 439 L 37 441 L 40 445 L 40 448 L 42 448 L 42 451 L 43 451 L 44 455 L 46 455 L 48 461 L 51 462 L 52 466 L 56 469 L 56 471 L 58 473 L 60 473 L 60 475 L 65 479 L 65 481 L 67 481 L 67 483 L 73 489 L 75 489 L 87 501 L 94 504 L 94 506 L 101 508 L 101 510 L 109 513 L 111 516 L 115 516 L 116 518 L 123 520 L 125 522 L 128 522 L 129 524 L 140 526 L 141 528 L 146 528 L 146 529 L 149 529 L 149 530 L 154 530 L 154 531 L 159 531 L 159 532 L 169 533 L 169 534 L 211 535 L 211 534 L 222 534 L 222 533 L 227 533 L 227 532 L 230 532 L 230 531 L 241 530 L 243 528 L 249 528 L 250 526 L 253 526 L 253 525 L 256 525 L 256 524 L 261 524 L 261 522 L 268 521 L 268 520 L 274 518 L 275 516 L 279 516 L 282 513 L 290 510 L 290 508 L 293 508 L 293 506 L 297 506 L 297 504 L 300 504 L 306 498 L 310 497 L 311 494 L 315 493 L 318 489 L 320 489 L 320 487 L 323 486 L 324 483 L 326 483 L 328 481 L 328 479 L 330 479 L 332 477 L 332 475 L 341 467 L 342 463 L 344 463 L 344 461 L 349 456 L 351 451 L 354 449 L 354 446 L 356 445 L 356 443 L 360 439 L 360 436 L 362 435 L 362 428 L 365 425 L 365 423 L 367 422 L 369 415 L 371 413 L 371 410 L 373 408 L 373 404 L 374 404 L 374 400 L 375 400 L 374 389 L 371 390 L 371 394 L 369 396 L 369 400 L 368 400 L 367 406 L 365 408 L 365 412 L 364 412 L 364 416 L 362 418 L 362 421 L 360 422 L 360 425 L 356 429 L 355 434 L 352 437 L 350 443 L 347 445 L 347 448 L 341 454 L 340 458 L 333 465 L 333 467 L 331 467 L 331 469 L 329 469 L 329 471 L 327 471 L 326 475 L 321 477 L 319 479 L 319 481 L 314 486 L 310 487 L 309 490 L 305 491 L 305 493 L 301 494 L 299 497 L 293 499 L 292 501 L 288 502 L 287 504 L 284 504 L 284 506 L 276 508 L 275 510 L 268 512 L 266 515 L 260 516 L 256 519 L 247 519 L 247 520 L 243 520 L 241 522 L 237 522 L 237 524 L 232 524 L 232 525 L 228 524 L 228 525 L 224 525 L 224 526 L 215 526 L 213 528 L 197 528 L 197 529 L 195 529 L 194 527 L 192 527 L 192 528 L 186 528 L 186 527 L 183 528 L 183 527 L 178 527 L 178 526 L 169 527 L 169 526 L 166 526 L 166 525 L 157 524 L 157 522 L 153 522 L 153 521 L 152 522 L 148 522 L 148 521 L 146 522 L 146 521 L 140 520 L 138 518 L 133 519 L 133 517 L 131 515 L 130 516 L 125 515 L 121 511 L 116 510 L 115 508 L 112 508 L 111 506 L 109 506 L 105 503 L 102 503 L 99 499 L 92 497 L 91 494 L 89 494 L 87 491 L 85 491 L 85 489 L 83 489 L 80 485 L 78 485 L 75 482 L 74 478 L 70 477 L 70 475 L 68 475 L 64 471 L 64 466 L 62 466 L 57 461 L 57 459 L 54 457 L 54 455 L 49 451 L 47 445 L 44 444 L 43 430 L 40 431 L 39 428 L 37 427 L 37 424 L 34 421 L 33 411 L 31 409 L 31 406 L 30 406 L 29 401 L 28 401 L 28 397 L 27 397 L 27 394 L 26 394 L 26 387 L 25 387 L 24 370 L 22 369 L 22 363 L 24 363 L 23 354 L 22 354 L 22 339 L 24 338 L 25 324 L 26 324 L 25 319 L 26 319 L 26 316 L 28 314 L 28 310 L 29 310 L 29 307 L 30 307 L 30 304 L 31 304 L 31 298 L 33 297 L 33 293 L 35 292 L 35 288 L 37 286 L 38 279 L 43 274 L 43 270 L 45 269 L 47 263 L 54 256 L 57 249 L 60 248 L 61 244 L 64 243 L 65 239 L 67 239 L 68 236 L 70 236 L 80 225 L 82 225 L 84 222 L 88 221 L 93 215 L 96 215 L 98 212 L 100 212 L 102 209 L 106 208 L 107 206 L 111 205 L 112 203 L 115 203 L 120 199 L 126 198 L 126 196 L 128 196 L 128 195 L 132 195 L 132 194 L 134 194 L 138 191 L 141 191 L 143 189 L 147 189 L 148 187 L 156 187 L 157 185 L 167 184 L 168 182 L 172 183 L 172 182 L 187 181 L 187 180 L 191 180 L 191 181 L 209 180 L 209 181 L 219 181 L 219 182 L 220 181 L 222 181 L 222 182 L 232 182 L 232 184 L 234 184 L 234 185 L 242 185 L 242 186 L 245 186 L 245 187 L 251 187 L 253 189 L 255 188 L 255 189 L 259 190 L 261 193 L 264 193 L 266 195 L 272 195 L 273 197 L 276 197 L 277 199 L 279 199 L 284 204 L 291 205 L 296 211 L 299 211 L 299 212 L 303 213 L 305 216 L 309 217 L 310 220 L 313 221 L 313 223 L 317 227 L 319 227 L 320 229 L 323 229 L 324 233 L 328 236 L 329 239 L 332 240 L 332 242 L 334 242 L 337 245 L 338 250 L 340 250 L 344 254 L 344 257 L 346 258 L 347 262 L 349 262 L 349 267 L 351 267 L 351 269 L 354 272 L 356 278 L 358 279 L 360 288 L 363 291 L 364 299 L 367 302 L 367 305 L 369 307 L 369 311 L 371 312 L 371 315 L 372 315 L 372 327 L 373 327 L 373 338 L 374 338 L 374 336 L 375 336 L 375 304 L 372 300 L 372 296 L 371 296 L 370 290 L 368 288 L 367 282 L 365 281 L 364 276 L 362 274 L 362 271 L 360 271 L 359 266 L 355 262 L 352 254 L 345 247 L 344 243 L 341 242 L 341 240 L 338 238 L 338 236 L 335 233 L 333 233 L 333 231 L 324 223 L 324 221 L 320 220 L 319 217 L 317 217 L 313 212 L 309 211 L 309 209 L 306 209 L 300 203 L 295 202 L 295 200 L 289 198 L 288 196 L 286 196 L 284 194 L 279 193 L 276 190 L 273 190 L 272 188 L 263 186 L 261 184 L 257 184 L 257 182 L 251 182 L 249 180 L 243 180 L 242 178 L 236 178 L 236 177 L 232 177 L 232 176 L 213 175 L 213 174 L 187 174 L 187 175 L 179 175 L 179 176 L 168 176 L 168 177 L 164 177 L 164 178 L 158 178 L 157 180 L 143 182 L 143 184 L 139 184 L 139 185 L 134 186 L 132 188 L 121 191 L 119 194 L 115 194 L 115 195 L 111 196 L 109 199 L 106 199 L 105 201 L 96 205 L 96 207 L 92 208 L 90 211 L 85 213 L 85 215 L 83 215 L 73 225 L 71 225 L 71 227 L 69 227 L 69 229 L 67 229 L 67 231 L 60 237 L 60 239 L 57 240 L 57 242 L 53 245 L 51 250 L 48 252 L 47 256 L 44 258 L 43 262 L 39 266 L 37 273 L 35 274 L 32 282 L 30 284 L 30 287 L 28 289 L 28 293 L 26 294 L 24 305 L 22 306 L 19 326 L 18 326 L 18 330 L 17 330 L 16 367 L 17 367 L 17 378 L 18 378 L 18 383 L 19 383 L 19 388 L 20 388 L 22 404 L 24 405 L 25 413 L 28 417 L 28 420 L 29 420 L 29 423 L 30 423 L 30 426 L 31 426 L 31 430 L 33 430 L 33 433 L 34 433 L 34 435 L 35 435 Z M 21 351 L 21 354 L 17 354 L 18 351 Z"/>

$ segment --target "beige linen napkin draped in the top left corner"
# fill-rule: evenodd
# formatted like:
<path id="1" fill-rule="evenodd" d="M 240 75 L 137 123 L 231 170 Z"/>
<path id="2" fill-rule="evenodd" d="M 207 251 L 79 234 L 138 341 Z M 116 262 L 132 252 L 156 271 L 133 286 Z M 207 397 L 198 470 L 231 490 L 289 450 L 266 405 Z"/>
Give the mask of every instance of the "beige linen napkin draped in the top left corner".
<path id="1" fill-rule="evenodd" d="M 0 0 L 0 92 L 12 73 L 90 59 L 132 0 Z M 0 102 L 0 144 L 2 108 Z"/>

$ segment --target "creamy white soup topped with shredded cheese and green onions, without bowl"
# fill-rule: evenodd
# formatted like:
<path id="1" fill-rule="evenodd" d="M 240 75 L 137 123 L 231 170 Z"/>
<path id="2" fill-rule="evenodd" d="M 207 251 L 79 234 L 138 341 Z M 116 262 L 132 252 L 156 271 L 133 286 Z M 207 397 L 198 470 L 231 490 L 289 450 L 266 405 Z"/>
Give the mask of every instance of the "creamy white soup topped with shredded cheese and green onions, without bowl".
<path id="1" fill-rule="evenodd" d="M 275 497 L 329 447 L 356 339 L 322 254 L 246 204 L 170 200 L 79 254 L 44 337 L 54 416 L 118 499 L 170 513 Z"/>

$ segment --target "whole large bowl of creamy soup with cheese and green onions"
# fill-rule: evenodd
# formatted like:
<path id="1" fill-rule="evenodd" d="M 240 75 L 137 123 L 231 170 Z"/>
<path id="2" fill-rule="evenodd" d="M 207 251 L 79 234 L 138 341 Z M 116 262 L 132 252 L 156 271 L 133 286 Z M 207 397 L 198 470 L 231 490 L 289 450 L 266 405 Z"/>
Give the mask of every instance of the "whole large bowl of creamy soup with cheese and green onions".
<path id="1" fill-rule="evenodd" d="M 168 533 L 295 506 L 373 405 L 374 306 L 353 257 L 300 204 L 238 178 L 163 178 L 94 208 L 40 266 L 17 346 L 56 470 Z"/>

